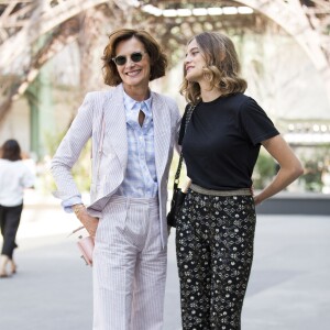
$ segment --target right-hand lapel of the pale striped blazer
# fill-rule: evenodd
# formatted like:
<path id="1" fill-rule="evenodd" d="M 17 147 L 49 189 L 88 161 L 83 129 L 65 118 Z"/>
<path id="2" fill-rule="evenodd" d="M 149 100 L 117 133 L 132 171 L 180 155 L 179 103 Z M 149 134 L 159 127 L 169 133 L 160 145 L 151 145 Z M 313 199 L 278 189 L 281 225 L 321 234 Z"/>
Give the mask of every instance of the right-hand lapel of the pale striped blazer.
<path id="1" fill-rule="evenodd" d="M 170 117 L 165 101 L 156 94 L 153 94 L 152 111 L 154 120 L 154 141 L 155 141 L 155 163 L 157 178 L 161 183 L 168 158 L 170 144 Z"/>

